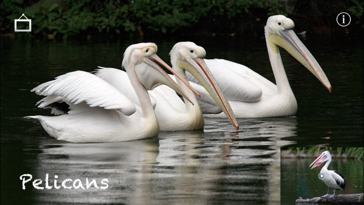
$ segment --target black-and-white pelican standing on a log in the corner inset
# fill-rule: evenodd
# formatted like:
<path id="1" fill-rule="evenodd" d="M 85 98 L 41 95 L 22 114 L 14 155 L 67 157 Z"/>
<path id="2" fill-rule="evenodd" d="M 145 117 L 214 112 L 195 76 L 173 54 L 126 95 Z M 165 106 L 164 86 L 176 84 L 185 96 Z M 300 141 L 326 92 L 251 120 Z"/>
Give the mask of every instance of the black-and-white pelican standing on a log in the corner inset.
<path id="1" fill-rule="evenodd" d="M 322 181 L 328 186 L 327 194 L 322 197 L 330 196 L 330 198 L 335 196 L 336 189 L 344 190 L 345 189 L 345 181 L 343 179 L 343 175 L 341 175 L 338 171 L 328 170 L 329 164 L 331 162 L 331 154 L 329 151 L 324 151 L 314 162 L 310 165 L 314 165 L 312 169 L 320 166 L 323 162 L 326 162 L 325 166 L 321 169 L 320 173 L 325 174 L 325 178 Z M 334 188 L 334 193 L 329 194 L 330 188 Z"/>

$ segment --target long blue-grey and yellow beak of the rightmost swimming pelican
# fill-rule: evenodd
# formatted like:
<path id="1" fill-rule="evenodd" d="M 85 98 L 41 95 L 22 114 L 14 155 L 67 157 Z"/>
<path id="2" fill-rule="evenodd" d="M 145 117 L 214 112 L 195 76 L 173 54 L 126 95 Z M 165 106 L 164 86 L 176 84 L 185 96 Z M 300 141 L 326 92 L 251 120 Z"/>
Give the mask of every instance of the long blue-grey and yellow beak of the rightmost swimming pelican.
<path id="1" fill-rule="evenodd" d="M 288 51 L 304 67 L 310 70 L 330 92 L 332 91 L 331 84 L 324 71 L 292 29 L 284 31 L 278 30 L 277 34 L 270 34 L 268 38 L 270 43 L 274 43 Z"/>

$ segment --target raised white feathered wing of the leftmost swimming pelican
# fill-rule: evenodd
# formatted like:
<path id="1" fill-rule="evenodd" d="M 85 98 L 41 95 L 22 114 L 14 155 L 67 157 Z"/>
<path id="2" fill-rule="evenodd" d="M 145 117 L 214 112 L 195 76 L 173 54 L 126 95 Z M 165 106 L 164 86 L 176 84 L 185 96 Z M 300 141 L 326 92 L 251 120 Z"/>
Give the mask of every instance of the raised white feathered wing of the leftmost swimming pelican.
<path id="1" fill-rule="evenodd" d="M 47 96 L 38 102 L 39 107 L 46 107 L 51 102 L 64 101 L 67 104 L 86 102 L 90 107 L 116 109 L 128 116 L 136 111 L 134 103 L 114 86 L 94 74 L 80 70 L 58 76 L 31 91 Z"/>

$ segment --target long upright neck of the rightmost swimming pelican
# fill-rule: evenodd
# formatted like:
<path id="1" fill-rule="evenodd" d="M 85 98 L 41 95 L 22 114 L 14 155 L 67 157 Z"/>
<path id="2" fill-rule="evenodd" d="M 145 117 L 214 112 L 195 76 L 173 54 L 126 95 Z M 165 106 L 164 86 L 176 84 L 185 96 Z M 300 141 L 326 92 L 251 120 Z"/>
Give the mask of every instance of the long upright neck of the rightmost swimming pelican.
<path id="1" fill-rule="evenodd" d="M 277 92 L 292 92 L 291 86 L 289 85 L 287 74 L 284 70 L 281 54 L 277 45 L 269 43 L 269 34 L 265 28 L 265 41 L 269 54 L 270 65 L 273 69 L 274 78 L 276 79 Z M 274 48 L 275 47 L 275 48 Z"/>

